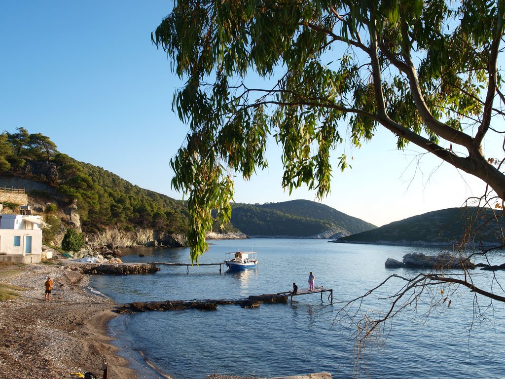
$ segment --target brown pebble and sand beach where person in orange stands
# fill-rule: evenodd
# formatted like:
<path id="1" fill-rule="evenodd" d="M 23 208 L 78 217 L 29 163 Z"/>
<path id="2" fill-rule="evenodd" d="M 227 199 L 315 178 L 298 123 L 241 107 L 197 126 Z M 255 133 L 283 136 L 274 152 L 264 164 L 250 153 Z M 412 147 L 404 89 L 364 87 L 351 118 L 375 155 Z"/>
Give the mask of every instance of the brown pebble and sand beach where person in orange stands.
<path id="1" fill-rule="evenodd" d="M 55 285 L 44 301 L 44 282 Z M 0 303 L 0 378 L 71 378 L 72 372 L 138 378 L 116 355 L 107 322 L 116 304 L 89 291 L 89 278 L 65 265 L 0 266 L 0 283 L 17 286 L 20 297 Z"/>

